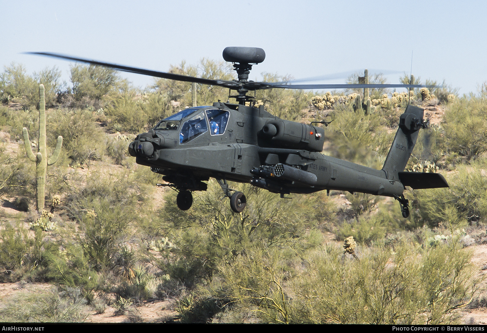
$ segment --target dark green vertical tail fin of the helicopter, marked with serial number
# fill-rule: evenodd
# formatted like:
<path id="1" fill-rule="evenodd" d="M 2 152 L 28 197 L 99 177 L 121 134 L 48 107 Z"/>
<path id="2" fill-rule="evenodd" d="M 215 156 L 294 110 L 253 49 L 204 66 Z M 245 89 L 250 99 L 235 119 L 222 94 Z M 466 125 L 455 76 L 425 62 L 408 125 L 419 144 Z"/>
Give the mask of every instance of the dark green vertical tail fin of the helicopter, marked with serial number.
<path id="1" fill-rule="evenodd" d="M 398 173 L 404 171 L 411 156 L 412 148 L 416 144 L 419 129 L 425 128 L 423 120 L 424 109 L 408 105 L 406 111 L 399 118 L 399 129 L 394 137 L 393 145 L 387 154 L 382 170 L 387 179 L 399 181 Z"/>

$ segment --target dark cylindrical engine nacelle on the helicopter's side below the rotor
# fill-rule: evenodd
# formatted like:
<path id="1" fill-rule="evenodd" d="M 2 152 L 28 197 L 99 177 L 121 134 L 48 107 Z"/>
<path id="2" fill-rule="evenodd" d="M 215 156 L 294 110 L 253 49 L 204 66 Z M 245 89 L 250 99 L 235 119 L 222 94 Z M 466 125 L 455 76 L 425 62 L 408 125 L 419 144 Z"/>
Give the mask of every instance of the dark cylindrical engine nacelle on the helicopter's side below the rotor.
<path id="1" fill-rule="evenodd" d="M 324 134 L 322 128 L 283 119 L 269 120 L 262 128 L 272 146 L 309 151 L 323 151 Z"/>

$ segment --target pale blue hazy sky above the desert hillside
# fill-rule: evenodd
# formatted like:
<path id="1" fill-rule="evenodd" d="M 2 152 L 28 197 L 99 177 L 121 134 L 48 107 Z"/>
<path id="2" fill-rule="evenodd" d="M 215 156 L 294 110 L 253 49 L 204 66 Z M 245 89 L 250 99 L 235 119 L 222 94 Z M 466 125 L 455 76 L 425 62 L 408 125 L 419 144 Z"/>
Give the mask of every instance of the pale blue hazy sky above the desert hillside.
<path id="1" fill-rule="evenodd" d="M 262 72 L 296 79 L 358 69 L 407 72 L 460 93 L 487 81 L 486 1 L 1 0 L 0 65 L 28 74 L 68 61 L 54 52 L 166 72 L 182 60 L 223 60 L 226 46 L 265 50 Z M 145 87 L 151 77 L 122 73 Z M 401 74 L 387 75 L 399 83 Z M 345 78 L 312 83 L 345 83 Z"/>

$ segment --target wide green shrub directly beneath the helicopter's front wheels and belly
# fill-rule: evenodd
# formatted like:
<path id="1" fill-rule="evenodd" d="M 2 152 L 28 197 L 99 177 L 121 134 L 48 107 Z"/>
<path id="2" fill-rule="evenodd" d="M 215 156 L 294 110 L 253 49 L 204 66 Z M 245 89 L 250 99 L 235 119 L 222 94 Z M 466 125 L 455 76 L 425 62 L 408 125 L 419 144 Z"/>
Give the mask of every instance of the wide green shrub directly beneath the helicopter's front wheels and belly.
<path id="1" fill-rule="evenodd" d="M 163 273 L 191 288 L 211 281 L 220 262 L 232 262 L 251 248 L 276 247 L 296 253 L 321 241 L 320 234 L 309 229 L 329 216 L 323 212 L 329 210 L 324 194 L 296 195 L 284 201 L 249 185 L 234 188 L 247 196 L 245 214 L 233 213 L 212 181 L 187 211 L 176 207 L 175 195 L 166 197 L 159 223 L 173 245 L 160 249 L 164 260 L 158 266 Z"/>

